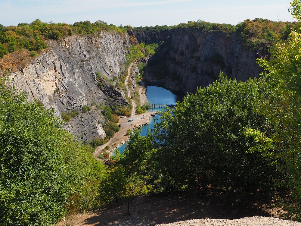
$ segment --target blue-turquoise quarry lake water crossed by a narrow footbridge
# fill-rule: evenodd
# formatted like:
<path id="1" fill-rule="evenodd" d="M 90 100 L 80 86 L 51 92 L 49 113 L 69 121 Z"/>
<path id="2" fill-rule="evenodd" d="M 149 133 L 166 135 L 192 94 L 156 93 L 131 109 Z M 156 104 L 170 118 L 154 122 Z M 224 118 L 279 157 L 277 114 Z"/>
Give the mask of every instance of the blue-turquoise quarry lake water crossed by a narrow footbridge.
<path id="1" fill-rule="evenodd" d="M 172 93 L 168 89 L 164 89 L 159 86 L 147 86 L 146 87 L 146 97 L 147 101 L 150 102 L 152 105 L 175 105 L 177 100 L 181 100 L 182 98 L 176 95 L 175 93 Z M 165 108 L 151 108 L 149 111 L 156 112 L 165 110 Z M 159 115 L 156 115 L 155 117 L 152 117 L 150 124 L 142 127 L 141 129 L 141 137 L 145 136 L 147 134 L 148 129 L 154 128 L 154 119 L 157 119 L 157 123 L 160 122 Z M 126 143 L 121 145 L 119 148 L 120 153 L 124 152 L 126 149 Z"/>

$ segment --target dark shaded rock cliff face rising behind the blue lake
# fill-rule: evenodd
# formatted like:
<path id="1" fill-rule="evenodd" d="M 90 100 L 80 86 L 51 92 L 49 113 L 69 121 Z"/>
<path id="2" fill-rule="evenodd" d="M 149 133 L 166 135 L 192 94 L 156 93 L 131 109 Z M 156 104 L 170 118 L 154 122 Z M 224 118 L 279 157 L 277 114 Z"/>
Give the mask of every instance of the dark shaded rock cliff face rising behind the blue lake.
<path id="1" fill-rule="evenodd" d="M 256 64 L 258 55 L 245 46 L 241 36 L 222 31 L 177 29 L 160 54 L 158 57 L 167 59 L 168 73 L 164 78 L 147 73 L 147 83 L 184 94 L 195 93 L 197 87 L 213 83 L 220 71 L 238 81 L 258 77 L 261 71 Z M 154 55 L 150 62 L 156 57 Z"/>

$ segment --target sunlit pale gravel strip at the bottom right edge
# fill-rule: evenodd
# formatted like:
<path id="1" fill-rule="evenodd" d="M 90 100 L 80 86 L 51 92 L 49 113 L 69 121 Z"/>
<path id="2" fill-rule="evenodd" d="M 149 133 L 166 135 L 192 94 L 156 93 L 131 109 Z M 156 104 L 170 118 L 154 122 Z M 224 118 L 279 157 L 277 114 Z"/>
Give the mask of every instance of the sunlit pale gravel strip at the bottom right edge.
<path id="1" fill-rule="evenodd" d="M 296 221 L 286 221 L 272 217 L 244 217 L 235 220 L 227 219 L 195 219 L 179 221 L 169 224 L 156 224 L 156 226 L 299 226 Z"/>

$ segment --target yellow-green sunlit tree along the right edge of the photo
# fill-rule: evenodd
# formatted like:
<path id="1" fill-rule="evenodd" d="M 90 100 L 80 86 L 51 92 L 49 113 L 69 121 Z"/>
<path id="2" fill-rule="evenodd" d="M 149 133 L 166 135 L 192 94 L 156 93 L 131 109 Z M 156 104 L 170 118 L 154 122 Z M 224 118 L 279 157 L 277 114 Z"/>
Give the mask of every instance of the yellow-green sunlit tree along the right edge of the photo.
<path id="1" fill-rule="evenodd" d="M 291 5 L 299 1 L 293 1 Z M 295 5 L 293 13 L 299 14 L 301 3 Z M 294 14 L 293 14 L 294 15 Z M 295 15 L 294 15 L 295 16 Z M 292 203 L 287 206 L 295 219 L 301 219 L 301 34 L 293 31 L 285 43 L 276 43 L 270 50 L 271 59 L 260 59 L 259 64 L 268 73 L 263 73 L 275 90 L 273 99 L 262 100 L 262 114 L 265 114 L 276 125 L 272 140 L 275 145 L 275 155 L 279 158 L 279 165 L 285 177 L 276 180 L 277 187 L 290 190 Z"/>

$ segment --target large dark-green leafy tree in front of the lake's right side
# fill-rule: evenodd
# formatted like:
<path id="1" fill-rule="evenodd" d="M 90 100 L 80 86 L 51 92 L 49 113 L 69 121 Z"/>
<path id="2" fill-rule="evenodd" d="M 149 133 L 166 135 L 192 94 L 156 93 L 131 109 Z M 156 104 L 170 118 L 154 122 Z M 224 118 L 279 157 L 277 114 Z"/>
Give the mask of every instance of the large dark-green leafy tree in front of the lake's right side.
<path id="1" fill-rule="evenodd" d="M 215 187 L 233 193 L 271 192 L 278 177 L 272 158 L 259 151 L 247 128 L 271 133 L 272 125 L 253 110 L 254 99 L 268 96 L 263 80 L 237 83 L 222 74 L 195 95 L 187 95 L 175 110 L 162 113 L 155 126 L 161 186 L 166 191 Z M 174 169 L 177 169 L 176 171 Z M 197 184 L 197 172 L 200 184 Z"/>

